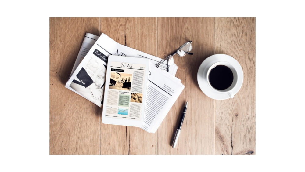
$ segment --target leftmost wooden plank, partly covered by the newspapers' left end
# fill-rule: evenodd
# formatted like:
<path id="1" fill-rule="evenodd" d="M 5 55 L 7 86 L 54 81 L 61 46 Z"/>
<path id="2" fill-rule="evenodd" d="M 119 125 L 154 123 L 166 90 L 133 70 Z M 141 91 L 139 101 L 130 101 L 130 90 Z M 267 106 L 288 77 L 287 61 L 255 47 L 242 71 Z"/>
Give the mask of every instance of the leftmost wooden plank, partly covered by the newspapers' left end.
<path id="1" fill-rule="evenodd" d="M 50 18 L 50 154 L 99 154 L 100 109 L 65 88 L 86 32 L 99 18 Z"/>

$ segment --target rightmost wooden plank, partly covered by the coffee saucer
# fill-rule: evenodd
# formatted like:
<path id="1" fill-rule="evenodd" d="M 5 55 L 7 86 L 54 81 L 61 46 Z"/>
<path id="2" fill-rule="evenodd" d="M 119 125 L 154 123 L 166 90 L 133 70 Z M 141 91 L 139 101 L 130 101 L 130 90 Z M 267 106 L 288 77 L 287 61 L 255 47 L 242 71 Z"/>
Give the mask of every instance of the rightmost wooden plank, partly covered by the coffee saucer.
<path id="1" fill-rule="evenodd" d="M 215 53 L 234 57 L 244 72 L 235 97 L 215 101 L 215 154 L 255 154 L 255 18 L 216 18 Z"/>

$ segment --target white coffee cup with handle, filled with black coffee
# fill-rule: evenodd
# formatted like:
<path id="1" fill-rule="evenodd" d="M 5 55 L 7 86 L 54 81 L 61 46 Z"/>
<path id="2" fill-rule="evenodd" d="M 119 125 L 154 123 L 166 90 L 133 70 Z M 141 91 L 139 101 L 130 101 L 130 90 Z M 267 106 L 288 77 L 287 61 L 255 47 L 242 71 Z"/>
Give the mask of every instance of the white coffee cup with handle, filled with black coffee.
<path id="1" fill-rule="evenodd" d="M 232 90 L 237 85 L 239 75 L 236 69 L 227 61 L 213 63 L 206 74 L 208 85 L 217 93 L 227 93 L 234 97 Z"/>

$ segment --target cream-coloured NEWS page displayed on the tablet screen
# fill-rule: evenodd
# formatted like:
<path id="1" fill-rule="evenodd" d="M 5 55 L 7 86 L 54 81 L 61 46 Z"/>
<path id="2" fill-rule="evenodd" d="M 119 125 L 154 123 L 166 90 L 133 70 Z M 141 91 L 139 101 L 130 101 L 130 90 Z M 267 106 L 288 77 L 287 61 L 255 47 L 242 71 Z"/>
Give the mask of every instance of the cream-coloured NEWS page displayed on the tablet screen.
<path id="1" fill-rule="evenodd" d="M 108 67 L 111 70 L 107 73 L 110 75 L 109 89 L 105 90 L 108 93 L 105 93 L 105 116 L 140 120 L 143 93 L 146 93 L 147 88 L 144 74 L 148 65 L 117 61 L 110 63 Z"/>

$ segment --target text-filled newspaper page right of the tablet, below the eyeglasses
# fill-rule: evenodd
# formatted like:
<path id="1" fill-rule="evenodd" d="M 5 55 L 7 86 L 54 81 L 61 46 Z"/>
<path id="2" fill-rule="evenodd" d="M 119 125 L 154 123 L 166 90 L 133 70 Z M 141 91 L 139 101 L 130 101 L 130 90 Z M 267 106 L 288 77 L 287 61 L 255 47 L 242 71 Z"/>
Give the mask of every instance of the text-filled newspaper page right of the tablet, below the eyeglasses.
<path id="1" fill-rule="evenodd" d="M 148 81 L 144 126 L 141 128 L 155 133 L 181 94 L 184 85 L 176 77 L 156 67 L 149 68 Z"/>

